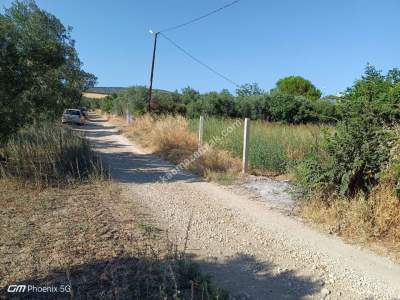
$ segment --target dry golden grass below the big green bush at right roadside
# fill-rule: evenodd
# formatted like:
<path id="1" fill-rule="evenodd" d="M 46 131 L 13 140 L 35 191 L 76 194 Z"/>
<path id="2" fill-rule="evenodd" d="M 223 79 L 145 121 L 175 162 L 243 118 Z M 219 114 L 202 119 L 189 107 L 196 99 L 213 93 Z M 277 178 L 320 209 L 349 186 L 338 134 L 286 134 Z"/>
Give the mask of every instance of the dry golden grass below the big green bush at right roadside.
<path id="1" fill-rule="evenodd" d="M 400 261 L 400 200 L 392 184 L 378 185 L 368 197 L 360 194 L 329 202 L 322 201 L 323 198 L 314 195 L 304 201 L 302 216 L 329 232 L 351 242 L 368 244 Z"/>

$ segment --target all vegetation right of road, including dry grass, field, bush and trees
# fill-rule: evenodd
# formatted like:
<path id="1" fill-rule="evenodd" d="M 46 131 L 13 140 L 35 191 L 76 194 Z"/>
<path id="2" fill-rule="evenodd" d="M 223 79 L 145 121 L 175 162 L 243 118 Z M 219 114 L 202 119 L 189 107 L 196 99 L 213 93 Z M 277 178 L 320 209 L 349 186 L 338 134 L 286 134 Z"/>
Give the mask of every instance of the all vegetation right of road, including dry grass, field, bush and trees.
<path id="1" fill-rule="evenodd" d="M 143 116 L 146 100 L 145 88 L 134 87 L 92 103 L 120 116 L 128 108 L 135 120 L 124 126 L 124 131 L 177 163 L 197 149 L 199 115 L 206 117 L 205 142 L 236 118 L 250 117 L 254 120 L 252 173 L 291 178 L 303 195 L 299 202 L 303 216 L 330 232 L 363 242 L 379 240 L 392 254 L 398 249 L 398 69 L 382 74 L 367 65 L 352 87 L 324 98 L 311 82 L 290 76 L 269 92 L 248 84 L 238 89 L 236 96 L 225 90 L 206 94 L 191 88 L 181 93 L 161 91 L 151 103 L 151 116 Z M 221 153 L 209 155 L 215 163 L 206 165 L 201 158 L 189 169 L 211 180 L 228 177 L 225 181 L 231 182 L 240 172 L 242 126 L 213 148 Z M 208 160 L 207 153 L 204 157 Z"/>

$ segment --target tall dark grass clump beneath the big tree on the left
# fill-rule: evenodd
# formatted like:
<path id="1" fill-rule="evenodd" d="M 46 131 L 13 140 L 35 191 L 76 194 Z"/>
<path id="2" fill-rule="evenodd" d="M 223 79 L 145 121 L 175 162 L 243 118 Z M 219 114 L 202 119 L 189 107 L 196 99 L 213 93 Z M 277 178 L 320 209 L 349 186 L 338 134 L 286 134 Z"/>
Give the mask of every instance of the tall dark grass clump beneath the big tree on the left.
<path id="1" fill-rule="evenodd" d="M 0 177 L 38 187 L 70 184 L 106 175 L 84 137 L 69 127 L 44 123 L 20 130 L 0 149 Z"/>

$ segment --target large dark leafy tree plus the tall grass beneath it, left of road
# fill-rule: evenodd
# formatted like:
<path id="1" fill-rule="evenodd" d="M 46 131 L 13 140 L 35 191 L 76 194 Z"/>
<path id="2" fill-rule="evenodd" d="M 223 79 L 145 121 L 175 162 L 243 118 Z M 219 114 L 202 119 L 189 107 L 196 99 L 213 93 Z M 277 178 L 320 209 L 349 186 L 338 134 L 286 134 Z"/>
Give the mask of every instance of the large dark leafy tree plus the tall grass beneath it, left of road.
<path id="1" fill-rule="evenodd" d="M 57 121 L 96 77 L 82 70 L 71 29 L 34 1 L 0 14 L 0 177 L 37 187 L 103 176 L 87 142 Z"/>

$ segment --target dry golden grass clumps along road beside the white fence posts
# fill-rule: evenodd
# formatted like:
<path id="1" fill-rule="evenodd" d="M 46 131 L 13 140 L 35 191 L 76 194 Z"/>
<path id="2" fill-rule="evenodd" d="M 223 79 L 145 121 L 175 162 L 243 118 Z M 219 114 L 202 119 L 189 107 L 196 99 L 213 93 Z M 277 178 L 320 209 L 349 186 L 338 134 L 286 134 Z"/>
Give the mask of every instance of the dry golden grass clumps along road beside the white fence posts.
<path id="1" fill-rule="evenodd" d="M 122 125 L 120 118 L 111 119 L 112 122 Z M 196 134 L 189 130 L 188 121 L 180 116 L 142 116 L 127 126 L 122 126 L 122 132 L 138 142 L 141 146 L 172 161 L 176 164 L 184 162 L 197 151 Z M 190 171 L 200 174 L 209 180 L 220 178 L 222 175 L 237 175 L 240 172 L 240 159 L 230 152 L 217 148 L 210 148 L 192 164 Z"/>

